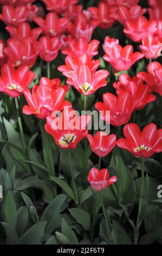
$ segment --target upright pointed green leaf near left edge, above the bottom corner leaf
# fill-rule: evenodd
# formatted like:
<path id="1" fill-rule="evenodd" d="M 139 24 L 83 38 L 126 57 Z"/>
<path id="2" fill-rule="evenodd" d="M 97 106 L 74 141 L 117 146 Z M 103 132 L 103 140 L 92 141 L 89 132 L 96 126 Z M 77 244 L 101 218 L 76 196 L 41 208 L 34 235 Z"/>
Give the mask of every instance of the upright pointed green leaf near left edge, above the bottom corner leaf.
<path id="1" fill-rule="evenodd" d="M 15 199 L 9 191 L 3 205 L 4 222 L 12 225 L 15 229 L 17 221 L 17 209 Z"/>

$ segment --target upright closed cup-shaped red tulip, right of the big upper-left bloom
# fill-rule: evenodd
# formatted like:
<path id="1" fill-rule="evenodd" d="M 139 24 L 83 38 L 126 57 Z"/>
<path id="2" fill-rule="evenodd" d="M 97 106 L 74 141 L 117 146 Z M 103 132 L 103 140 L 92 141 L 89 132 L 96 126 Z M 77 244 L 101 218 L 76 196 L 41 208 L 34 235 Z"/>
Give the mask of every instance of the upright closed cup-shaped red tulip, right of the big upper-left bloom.
<path id="1" fill-rule="evenodd" d="M 61 48 L 61 42 L 57 36 L 48 38 L 48 36 L 42 36 L 39 40 L 40 44 L 40 58 L 46 62 L 52 62 L 58 55 Z"/>

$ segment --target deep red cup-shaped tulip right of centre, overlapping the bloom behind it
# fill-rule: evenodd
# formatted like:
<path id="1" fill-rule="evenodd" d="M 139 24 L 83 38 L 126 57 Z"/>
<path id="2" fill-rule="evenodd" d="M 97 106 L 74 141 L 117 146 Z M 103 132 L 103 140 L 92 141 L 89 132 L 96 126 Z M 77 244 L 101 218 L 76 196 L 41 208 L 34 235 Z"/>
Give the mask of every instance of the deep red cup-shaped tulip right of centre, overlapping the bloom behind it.
<path id="1" fill-rule="evenodd" d="M 111 93 L 103 94 L 103 103 L 97 102 L 95 108 L 101 113 L 101 119 L 108 121 L 107 112 L 110 115 L 110 124 L 121 126 L 131 118 L 134 106 L 132 95 L 127 92 L 120 93 L 118 97 Z"/>

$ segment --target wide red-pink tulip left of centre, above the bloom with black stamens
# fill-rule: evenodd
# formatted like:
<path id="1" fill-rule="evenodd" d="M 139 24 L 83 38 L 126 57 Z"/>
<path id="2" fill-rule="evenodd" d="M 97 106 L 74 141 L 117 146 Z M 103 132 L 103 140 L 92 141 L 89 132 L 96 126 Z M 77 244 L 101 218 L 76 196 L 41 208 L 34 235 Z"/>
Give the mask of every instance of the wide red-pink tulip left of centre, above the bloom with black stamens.
<path id="1" fill-rule="evenodd" d="M 40 119 L 46 118 L 53 111 L 72 107 L 68 101 L 64 101 L 66 90 L 61 87 L 55 90 L 48 86 L 34 86 L 31 93 L 29 89 L 25 89 L 23 94 L 29 105 L 23 107 L 23 113 L 26 115 L 34 114 Z"/>

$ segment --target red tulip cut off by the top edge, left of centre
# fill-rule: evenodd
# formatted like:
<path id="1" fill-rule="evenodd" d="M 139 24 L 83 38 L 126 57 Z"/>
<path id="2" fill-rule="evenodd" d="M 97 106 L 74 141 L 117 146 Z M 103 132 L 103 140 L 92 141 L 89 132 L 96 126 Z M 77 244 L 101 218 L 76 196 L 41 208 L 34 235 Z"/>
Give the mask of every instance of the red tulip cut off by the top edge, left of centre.
<path id="1" fill-rule="evenodd" d="M 42 0 L 47 5 L 47 10 L 62 14 L 72 4 L 76 4 L 79 0 Z"/>

